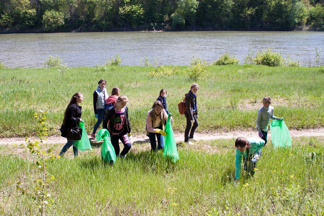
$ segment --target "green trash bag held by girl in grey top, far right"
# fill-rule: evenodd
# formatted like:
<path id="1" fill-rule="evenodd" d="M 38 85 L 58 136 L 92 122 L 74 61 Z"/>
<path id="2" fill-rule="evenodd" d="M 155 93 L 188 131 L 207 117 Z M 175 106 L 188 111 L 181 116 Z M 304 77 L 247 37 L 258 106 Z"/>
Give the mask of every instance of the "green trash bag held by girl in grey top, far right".
<path id="1" fill-rule="evenodd" d="M 290 132 L 283 119 L 273 120 L 270 123 L 270 132 L 273 147 L 291 147 Z"/>

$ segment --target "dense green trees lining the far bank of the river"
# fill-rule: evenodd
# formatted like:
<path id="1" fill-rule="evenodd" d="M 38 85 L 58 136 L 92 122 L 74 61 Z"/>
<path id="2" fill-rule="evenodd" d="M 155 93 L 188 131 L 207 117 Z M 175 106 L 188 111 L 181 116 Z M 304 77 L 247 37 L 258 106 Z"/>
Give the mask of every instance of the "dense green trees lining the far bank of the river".
<path id="1" fill-rule="evenodd" d="M 322 0 L 2 0 L 0 27 L 27 31 L 324 30 Z"/>

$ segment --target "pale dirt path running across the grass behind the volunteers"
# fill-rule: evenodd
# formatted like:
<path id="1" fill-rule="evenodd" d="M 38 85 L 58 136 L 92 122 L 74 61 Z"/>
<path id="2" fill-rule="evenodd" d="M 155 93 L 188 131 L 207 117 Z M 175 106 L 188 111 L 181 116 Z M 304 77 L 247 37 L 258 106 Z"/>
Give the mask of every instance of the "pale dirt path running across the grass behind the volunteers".
<path id="1" fill-rule="evenodd" d="M 299 136 L 324 136 L 324 128 L 319 129 L 308 129 L 308 130 L 290 130 L 290 135 L 292 137 L 299 137 Z M 237 137 L 251 137 L 251 136 L 258 136 L 256 131 L 230 131 L 230 132 L 214 132 L 214 133 L 195 133 L 195 138 L 199 140 L 216 140 L 216 139 L 230 139 L 230 138 L 237 138 Z M 90 136 L 89 136 L 90 137 Z M 268 134 L 270 138 L 270 132 Z M 92 139 L 92 138 L 91 138 Z M 181 142 L 184 140 L 183 133 L 176 133 L 175 134 L 176 142 Z M 51 136 L 48 137 L 47 143 L 65 143 L 66 138 L 61 136 Z M 146 134 L 140 134 L 133 136 L 131 139 L 132 143 L 136 142 L 149 142 L 148 137 Z M 25 138 L 23 137 L 13 137 L 13 138 L 1 138 L 0 145 L 5 144 L 21 144 L 25 143 Z"/>

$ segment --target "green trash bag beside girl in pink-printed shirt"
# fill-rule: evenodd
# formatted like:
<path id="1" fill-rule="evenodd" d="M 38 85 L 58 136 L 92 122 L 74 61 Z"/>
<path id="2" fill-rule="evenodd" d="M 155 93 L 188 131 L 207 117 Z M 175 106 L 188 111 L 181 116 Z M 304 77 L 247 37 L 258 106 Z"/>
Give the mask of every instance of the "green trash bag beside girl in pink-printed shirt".
<path id="1" fill-rule="evenodd" d="M 115 149 L 110 142 L 110 134 L 107 131 L 107 129 L 101 129 L 100 131 L 98 131 L 95 138 L 96 138 L 95 140 L 97 141 L 103 140 L 101 145 L 101 159 L 107 163 L 108 162 L 115 163 L 116 161 Z"/>

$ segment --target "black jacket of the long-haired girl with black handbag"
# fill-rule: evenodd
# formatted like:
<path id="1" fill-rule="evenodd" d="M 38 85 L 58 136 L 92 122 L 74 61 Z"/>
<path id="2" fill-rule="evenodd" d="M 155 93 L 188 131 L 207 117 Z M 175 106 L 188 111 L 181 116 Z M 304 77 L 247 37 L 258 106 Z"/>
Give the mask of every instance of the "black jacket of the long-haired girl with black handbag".
<path id="1" fill-rule="evenodd" d="M 81 106 L 77 105 L 76 103 L 71 104 L 70 107 L 67 109 L 66 117 L 65 117 L 65 124 L 62 123 L 61 126 L 61 136 L 66 137 L 67 129 L 78 127 L 79 122 L 81 119 Z"/>

